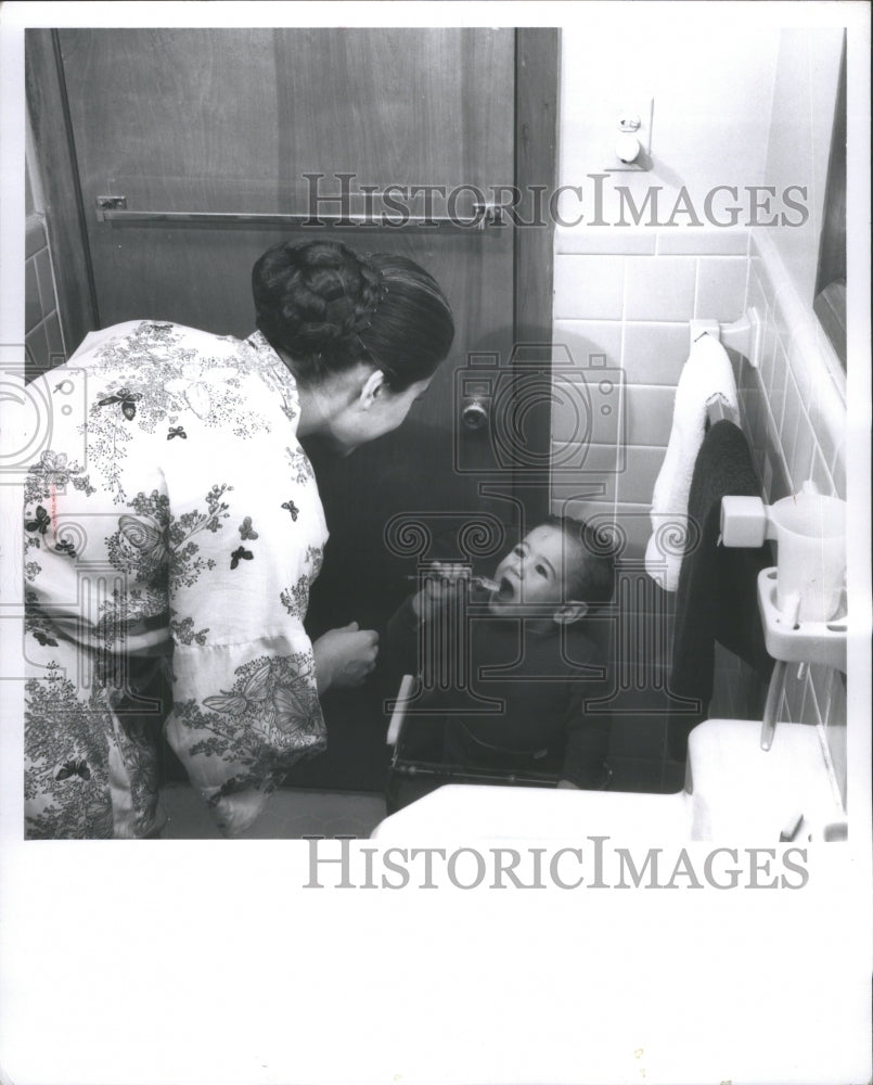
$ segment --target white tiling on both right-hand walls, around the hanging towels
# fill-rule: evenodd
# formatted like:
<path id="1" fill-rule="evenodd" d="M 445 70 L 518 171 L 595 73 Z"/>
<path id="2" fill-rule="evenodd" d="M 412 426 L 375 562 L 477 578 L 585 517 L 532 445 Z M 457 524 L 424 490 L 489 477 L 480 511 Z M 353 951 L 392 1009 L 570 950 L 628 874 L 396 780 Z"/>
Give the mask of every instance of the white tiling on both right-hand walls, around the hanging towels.
<path id="1" fill-rule="evenodd" d="M 562 385 L 556 374 L 556 397 L 561 391 L 564 401 L 553 416 L 553 454 L 562 459 L 553 511 L 600 522 L 612 515 L 627 536 L 626 556 L 644 552 L 652 487 L 688 356 L 688 322 L 731 322 L 750 305 L 762 321 L 759 368 L 739 356 L 734 363 L 765 498 L 778 500 L 809 477 L 822 493 L 845 498 L 845 374 L 767 231 L 559 229 L 555 358 L 572 371 L 578 401 L 587 390 L 593 444 L 588 452 L 574 449 L 581 416 L 566 400 L 566 378 Z M 596 413 L 604 372 L 621 383 L 620 411 L 612 418 Z M 799 677 L 793 669 L 783 712 L 824 726 L 845 800 L 844 679 L 823 667 Z"/>

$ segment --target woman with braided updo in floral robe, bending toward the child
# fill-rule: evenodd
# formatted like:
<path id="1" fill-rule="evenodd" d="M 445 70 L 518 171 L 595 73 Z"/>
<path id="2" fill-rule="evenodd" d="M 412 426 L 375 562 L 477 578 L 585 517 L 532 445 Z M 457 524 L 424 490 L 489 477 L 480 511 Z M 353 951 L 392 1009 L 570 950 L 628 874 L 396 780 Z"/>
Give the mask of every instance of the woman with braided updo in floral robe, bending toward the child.
<path id="1" fill-rule="evenodd" d="M 304 631 L 326 527 L 299 439 L 347 455 L 398 426 L 453 336 L 398 256 L 279 244 L 247 340 L 153 321 L 89 335 L 40 379 L 49 447 L 25 490 L 25 831 L 161 832 L 155 728 L 226 834 L 324 749 L 319 693 L 376 635 Z M 146 691 L 171 684 L 172 707 Z"/>

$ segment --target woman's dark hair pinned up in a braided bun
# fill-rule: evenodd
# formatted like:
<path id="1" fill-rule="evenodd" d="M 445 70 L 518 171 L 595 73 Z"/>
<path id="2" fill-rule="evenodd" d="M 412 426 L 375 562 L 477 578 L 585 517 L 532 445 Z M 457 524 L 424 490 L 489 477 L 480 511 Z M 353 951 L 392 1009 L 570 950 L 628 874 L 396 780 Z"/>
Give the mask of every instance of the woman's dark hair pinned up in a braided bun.
<path id="1" fill-rule="evenodd" d="M 423 268 L 336 241 L 273 245 L 252 270 L 252 293 L 258 329 L 309 387 L 364 360 L 402 392 L 433 375 L 454 336 L 449 303 Z"/>

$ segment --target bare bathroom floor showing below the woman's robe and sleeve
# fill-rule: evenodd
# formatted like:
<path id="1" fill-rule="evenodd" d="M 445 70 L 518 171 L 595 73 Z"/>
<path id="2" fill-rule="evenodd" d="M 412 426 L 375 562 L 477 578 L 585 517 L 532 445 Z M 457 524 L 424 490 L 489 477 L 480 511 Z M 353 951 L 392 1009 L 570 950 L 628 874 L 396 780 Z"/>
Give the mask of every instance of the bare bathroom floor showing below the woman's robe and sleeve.
<path id="1" fill-rule="evenodd" d="M 223 839 L 193 788 L 168 783 L 162 797 L 167 812 L 166 839 Z M 282 788 L 273 794 L 258 835 L 265 840 L 367 838 L 384 817 L 385 800 L 381 794 Z"/>

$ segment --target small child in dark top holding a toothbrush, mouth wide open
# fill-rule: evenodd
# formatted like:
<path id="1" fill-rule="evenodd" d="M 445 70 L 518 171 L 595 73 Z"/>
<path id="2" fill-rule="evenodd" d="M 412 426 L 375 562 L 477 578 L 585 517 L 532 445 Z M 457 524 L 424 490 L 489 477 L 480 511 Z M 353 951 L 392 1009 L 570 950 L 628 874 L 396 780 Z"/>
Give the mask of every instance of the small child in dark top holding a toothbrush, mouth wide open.
<path id="1" fill-rule="evenodd" d="M 612 598 L 614 564 L 587 525 L 539 524 L 490 583 L 459 565 L 433 574 L 388 624 L 393 678 L 419 675 L 422 688 L 406 713 L 403 756 L 454 766 L 455 780 L 464 768 L 478 779 L 500 769 L 603 787 L 608 717 L 585 703 L 608 690 L 581 620 Z M 390 802 L 402 805 L 398 795 Z"/>

